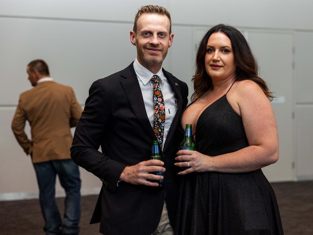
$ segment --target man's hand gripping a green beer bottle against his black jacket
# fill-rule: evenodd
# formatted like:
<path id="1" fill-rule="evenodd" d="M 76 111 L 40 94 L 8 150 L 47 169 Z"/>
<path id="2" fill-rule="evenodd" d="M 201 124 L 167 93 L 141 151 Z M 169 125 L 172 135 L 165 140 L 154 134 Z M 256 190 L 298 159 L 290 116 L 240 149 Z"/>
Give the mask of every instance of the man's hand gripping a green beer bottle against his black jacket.
<path id="1" fill-rule="evenodd" d="M 158 186 L 158 183 L 153 183 L 148 180 L 162 180 L 163 175 L 153 175 L 149 172 L 164 172 L 164 162 L 160 160 L 143 161 L 133 166 L 126 166 L 121 173 L 120 180 L 134 184 Z"/>

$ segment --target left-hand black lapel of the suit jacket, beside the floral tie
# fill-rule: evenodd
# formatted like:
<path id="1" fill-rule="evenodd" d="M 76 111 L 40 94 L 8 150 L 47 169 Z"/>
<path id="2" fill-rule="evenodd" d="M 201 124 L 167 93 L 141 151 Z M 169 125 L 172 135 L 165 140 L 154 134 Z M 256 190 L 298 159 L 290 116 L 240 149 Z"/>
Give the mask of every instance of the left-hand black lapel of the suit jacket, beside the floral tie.
<path id="1" fill-rule="evenodd" d="M 131 63 L 126 69 L 122 71 L 121 76 L 126 78 L 125 80 L 121 81 L 121 85 L 124 88 L 128 101 L 131 104 L 131 108 L 136 115 L 136 118 L 138 119 L 139 123 L 141 124 L 147 135 L 151 139 L 156 140 L 156 135 L 153 132 L 146 113 L 145 104 L 142 98 L 141 89 L 133 67 L 133 63 Z"/>

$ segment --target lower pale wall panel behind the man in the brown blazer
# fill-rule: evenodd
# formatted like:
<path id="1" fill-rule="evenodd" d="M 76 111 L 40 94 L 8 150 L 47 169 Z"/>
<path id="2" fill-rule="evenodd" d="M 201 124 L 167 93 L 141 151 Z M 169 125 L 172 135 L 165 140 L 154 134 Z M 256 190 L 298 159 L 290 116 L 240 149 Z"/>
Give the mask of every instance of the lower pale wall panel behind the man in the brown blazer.
<path id="1" fill-rule="evenodd" d="M 38 185 L 35 170 L 29 155 L 18 145 L 11 130 L 11 121 L 15 107 L 0 108 L 0 200 L 8 200 L 10 193 L 20 194 L 23 197 L 37 197 Z M 30 127 L 26 122 L 25 132 L 31 138 Z M 74 129 L 72 129 L 74 133 Z M 101 181 L 93 174 L 80 168 L 82 180 L 82 194 L 99 193 Z M 64 195 L 64 190 L 57 180 L 57 195 Z M 12 198 L 13 199 L 13 198 Z"/>

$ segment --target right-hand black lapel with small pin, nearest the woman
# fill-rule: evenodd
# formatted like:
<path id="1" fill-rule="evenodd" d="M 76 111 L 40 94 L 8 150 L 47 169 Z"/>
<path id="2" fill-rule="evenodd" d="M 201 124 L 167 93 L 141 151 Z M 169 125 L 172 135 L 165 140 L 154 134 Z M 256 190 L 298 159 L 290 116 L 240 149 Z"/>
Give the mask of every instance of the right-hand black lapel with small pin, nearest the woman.
<path id="1" fill-rule="evenodd" d="M 182 93 L 180 90 L 178 79 L 164 69 L 163 69 L 163 73 L 165 74 L 167 80 L 169 81 L 169 84 L 171 85 L 171 88 L 175 93 L 175 97 L 177 97 L 177 100 L 178 100 L 178 109 L 177 109 L 177 112 L 173 118 L 171 127 L 167 133 L 166 141 L 165 141 L 165 144 L 163 147 L 163 153 L 164 153 L 167 149 L 167 146 L 169 145 L 168 143 L 170 141 L 172 141 L 172 138 L 173 138 L 175 131 L 177 129 L 177 122 L 180 120 L 180 113 L 182 112 L 183 100 L 182 100 Z"/>

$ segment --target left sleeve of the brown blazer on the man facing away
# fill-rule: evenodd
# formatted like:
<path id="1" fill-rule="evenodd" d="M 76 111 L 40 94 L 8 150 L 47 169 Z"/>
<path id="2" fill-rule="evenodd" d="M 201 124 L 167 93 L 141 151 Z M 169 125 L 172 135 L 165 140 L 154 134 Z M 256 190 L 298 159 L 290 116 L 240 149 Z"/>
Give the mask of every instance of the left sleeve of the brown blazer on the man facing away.
<path id="1" fill-rule="evenodd" d="M 26 154 L 31 154 L 33 151 L 32 142 L 28 139 L 24 128 L 25 128 L 26 115 L 21 105 L 21 97 L 18 101 L 18 106 L 16 108 L 11 128 L 15 135 L 18 144 L 24 149 Z"/>

